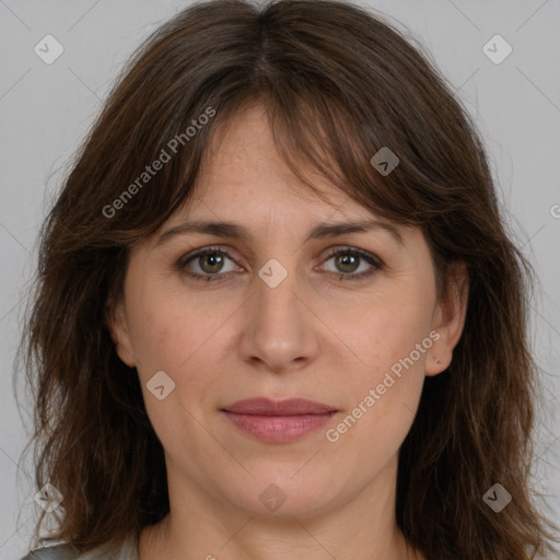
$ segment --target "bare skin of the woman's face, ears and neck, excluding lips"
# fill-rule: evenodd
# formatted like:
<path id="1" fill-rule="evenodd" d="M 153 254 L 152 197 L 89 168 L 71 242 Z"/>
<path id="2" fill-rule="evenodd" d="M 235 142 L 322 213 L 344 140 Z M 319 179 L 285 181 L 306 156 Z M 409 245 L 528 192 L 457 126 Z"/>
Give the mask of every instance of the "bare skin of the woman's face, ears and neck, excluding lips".
<path id="1" fill-rule="evenodd" d="M 456 269 L 450 295 L 436 301 L 420 229 L 397 224 L 404 246 L 384 230 L 304 243 L 313 225 L 375 215 L 324 177 L 312 175 L 331 203 L 302 188 L 275 148 L 262 107 L 230 125 L 214 136 L 195 198 L 161 231 L 187 218 L 228 220 L 247 228 L 250 241 L 190 233 L 156 246 L 160 232 L 143 240 L 108 318 L 165 450 L 171 513 L 142 532 L 140 560 L 422 559 L 396 526 L 397 454 L 425 376 L 446 369 L 460 337 L 466 270 Z M 230 249 L 221 269 L 207 257 L 183 272 L 174 268 L 209 246 Z M 329 248 L 361 248 L 384 267 L 352 281 L 372 265 L 361 257 L 337 265 Z M 276 288 L 258 276 L 272 257 L 288 272 Z M 199 281 L 187 271 L 222 278 Z M 431 348 L 328 441 L 326 430 L 431 331 L 439 334 Z M 175 382 L 162 400 L 147 387 L 158 371 Z M 220 412 L 258 396 L 307 398 L 339 412 L 296 441 L 264 443 Z M 271 483 L 285 495 L 276 511 L 259 500 Z"/>

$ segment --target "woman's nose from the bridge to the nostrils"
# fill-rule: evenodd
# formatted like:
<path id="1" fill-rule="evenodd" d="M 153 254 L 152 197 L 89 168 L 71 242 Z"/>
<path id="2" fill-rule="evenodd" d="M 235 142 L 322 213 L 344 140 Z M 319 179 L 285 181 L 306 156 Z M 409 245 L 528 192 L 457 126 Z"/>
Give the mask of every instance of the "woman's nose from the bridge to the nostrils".
<path id="1" fill-rule="evenodd" d="M 267 277 L 269 271 L 272 276 Z M 316 358 L 322 323 L 296 272 L 288 272 L 278 284 L 278 277 L 269 281 L 278 272 L 278 268 L 264 267 L 261 276 L 255 277 L 254 292 L 240 310 L 240 352 L 253 368 L 285 373 L 303 369 Z"/>

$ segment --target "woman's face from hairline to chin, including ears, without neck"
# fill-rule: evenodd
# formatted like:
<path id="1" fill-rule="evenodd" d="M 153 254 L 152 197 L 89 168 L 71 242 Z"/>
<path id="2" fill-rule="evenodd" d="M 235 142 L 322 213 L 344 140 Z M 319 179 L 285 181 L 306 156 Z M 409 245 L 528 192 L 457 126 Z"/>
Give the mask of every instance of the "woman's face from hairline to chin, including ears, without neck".
<path id="1" fill-rule="evenodd" d="M 451 361 L 464 292 L 436 301 L 421 230 L 307 238 L 319 225 L 377 219 L 314 180 L 330 203 L 296 183 L 253 107 L 209 152 L 194 199 L 131 253 L 108 322 L 138 370 L 172 503 L 188 491 L 302 517 L 386 486 L 425 375 Z M 246 236 L 179 228 L 161 237 L 186 221 L 231 222 Z M 225 411 L 259 397 L 330 412 Z"/>

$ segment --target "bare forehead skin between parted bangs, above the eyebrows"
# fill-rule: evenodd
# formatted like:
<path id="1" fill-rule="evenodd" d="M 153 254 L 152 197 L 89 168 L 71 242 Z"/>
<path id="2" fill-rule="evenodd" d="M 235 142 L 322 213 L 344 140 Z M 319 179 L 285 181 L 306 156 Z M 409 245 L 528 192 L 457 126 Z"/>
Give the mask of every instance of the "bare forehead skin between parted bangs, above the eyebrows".
<path id="1" fill-rule="evenodd" d="M 372 217 L 316 170 L 307 165 L 300 171 L 324 199 L 293 174 L 278 152 L 265 108 L 250 106 L 223 122 L 212 136 L 192 200 L 183 210 L 188 207 L 188 213 L 198 213 L 200 206 L 211 205 L 226 208 L 230 214 L 240 210 L 246 215 L 249 208 L 258 207 L 260 212 L 282 208 L 292 214 L 305 209 L 326 217 L 340 209 Z"/>

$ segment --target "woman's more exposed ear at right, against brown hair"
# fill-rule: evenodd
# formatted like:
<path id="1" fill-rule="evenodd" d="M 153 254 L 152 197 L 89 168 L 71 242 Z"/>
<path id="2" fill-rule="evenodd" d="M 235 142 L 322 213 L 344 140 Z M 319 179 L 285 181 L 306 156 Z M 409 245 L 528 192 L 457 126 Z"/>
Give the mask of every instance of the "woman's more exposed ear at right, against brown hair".
<path id="1" fill-rule="evenodd" d="M 456 261 L 450 265 L 447 291 L 436 304 L 432 330 L 439 334 L 430 348 L 425 363 L 425 375 L 438 375 L 446 370 L 453 359 L 453 349 L 459 341 L 465 326 L 468 302 L 468 269 L 465 262 Z M 438 362 L 435 359 L 438 358 Z"/>

